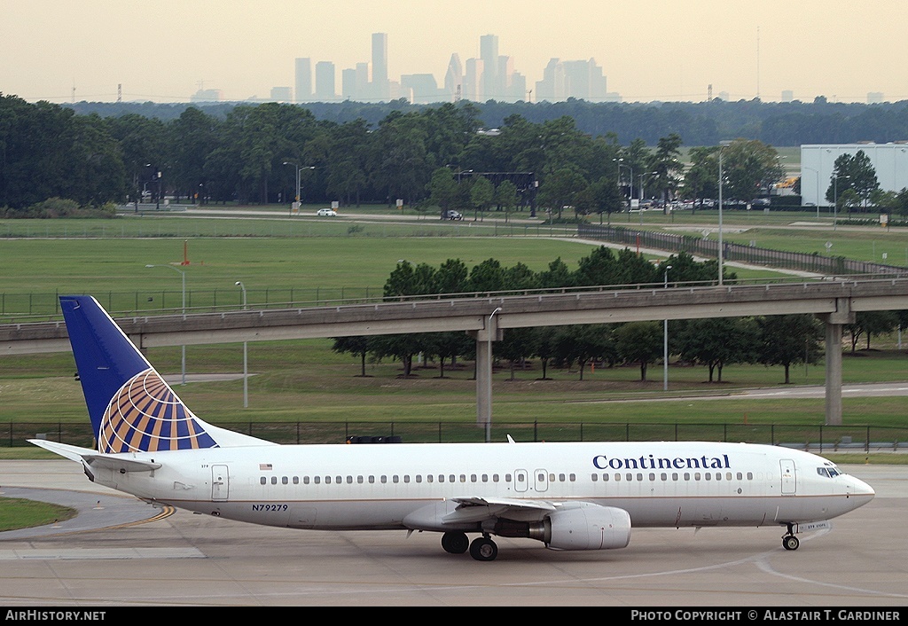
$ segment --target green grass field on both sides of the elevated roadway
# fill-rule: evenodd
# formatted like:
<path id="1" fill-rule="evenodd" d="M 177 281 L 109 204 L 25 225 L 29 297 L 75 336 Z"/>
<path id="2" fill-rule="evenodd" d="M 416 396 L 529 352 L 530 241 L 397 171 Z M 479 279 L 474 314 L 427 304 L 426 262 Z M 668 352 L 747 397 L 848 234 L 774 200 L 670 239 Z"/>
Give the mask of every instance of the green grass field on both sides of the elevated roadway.
<path id="1" fill-rule="evenodd" d="M 384 207 L 362 211 L 375 217 L 399 216 Z M 301 217 L 289 220 L 268 214 L 267 208 L 260 213 L 255 219 L 167 216 L 84 223 L 0 222 L 0 235 L 34 229 L 22 238 L 0 241 L 5 259 L 2 313 L 6 319 L 29 311 L 54 315 L 56 293 L 92 293 L 113 311 L 178 308 L 182 276 L 164 267 L 147 268 L 147 264 L 170 264 L 185 272 L 187 305 L 195 308 L 212 303 L 239 305 L 242 293 L 236 281 L 244 283 L 250 303 L 281 302 L 288 297 L 325 301 L 380 295 L 383 283 L 401 259 L 438 266 L 449 258 L 459 258 L 472 267 L 495 258 L 506 266 L 519 262 L 542 270 L 557 258 L 576 267 L 592 249 L 587 243 L 558 238 L 561 231 L 546 233 L 536 226 L 489 224 L 492 220 L 488 216 L 470 224 L 439 224 L 429 217 L 410 223 L 400 220 L 400 224 L 377 219 L 350 224 Z M 634 217 L 630 225 L 636 225 Z M 674 226 L 711 226 L 716 224 L 716 217 L 716 212 L 677 214 Z M 866 260 L 875 257 L 878 262 L 883 252 L 896 255 L 892 251 L 908 248 L 908 233 L 898 229 L 888 232 L 840 226 L 832 231 L 820 224 L 813 231 L 786 230 L 788 224 L 809 217 L 728 211 L 725 236 L 730 241 L 755 240 L 761 247 L 805 252 L 815 252 L 817 245 L 829 241 L 833 253 Z M 617 217 L 613 224 L 621 225 L 622 219 L 624 216 Z M 666 224 L 666 217 L 659 212 L 647 213 L 644 219 L 652 227 L 673 226 Z M 120 233 L 116 232 L 118 226 Z M 66 238 L 38 236 L 41 228 L 52 236 L 61 233 L 51 230 L 63 229 Z M 138 228 L 145 229 L 144 233 L 126 233 Z M 517 236 L 516 230 L 508 232 L 508 228 L 524 232 Z M 91 233 L 95 229 L 104 237 L 95 234 L 98 238 L 94 238 Z M 204 229 L 211 234 L 189 234 Z M 530 232 L 534 229 L 537 232 Z M 153 234 L 155 230 L 172 236 L 158 237 Z M 188 265 L 179 264 L 184 242 Z M 778 275 L 771 271 L 735 272 L 742 278 Z M 908 356 L 896 349 L 896 342 L 894 335 L 874 338 L 873 350 L 846 354 L 844 383 L 908 380 Z M 192 383 L 178 387 L 177 392 L 212 422 L 470 422 L 476 418 L 472 363 L 447 370 L 444 379 L 439 379 L 436 364 L 429 363 L 417 371 L 418 376 L 404 380 L 399 377 L 400 364 L 394 362 L 370 363 L 368 375 L 361 377 L 358 361 L 331 352 L 330 340 L 250 343 L 249 354 L 250 371 L 255 373 L 249 383 L 250 408 L 242 407 L 242 381 Z M 163 373 L 180 370 L 179 348 L 153 349 L 148 356 Z M 189 346 L 187 363 L 190 373 L 239 373 L 242 347 Z M 0 359 L 0 423 L 84 422 L 82 393 L 73 373 L 69 353 Z M 668 400 L 660 402 L 642 402 L 665 395 L 659 365 L 650 368 L 646 382 L 639 381 L 637 367 L 587 370 L 582 382 L 576 371 L 549 369 L 548 375 L 553 380 L 538 380 L 538 363 L 514 373 L 514 380 L 510 380 L 507 367 L 498 369 L 493 383 L 494 420 L 824 422 L 822 399 L 754 401 L 735 397 L 735 390 L 742 388 L 781 386 L 784 373 L 777 367 L 729 366 L 723 373 L 723 383 L 706 383 L 705 368 L 673 364 Z M 796 367 L 792 382 L 822 385 L 824 369 L 822 365 Z M 702 396 L 707 394 L 725 397 L 706 400 Z M 844 423 L 904 428 L 908 425 L 905 406 L 906 401 L 898 397 L 845 398 Z"/>

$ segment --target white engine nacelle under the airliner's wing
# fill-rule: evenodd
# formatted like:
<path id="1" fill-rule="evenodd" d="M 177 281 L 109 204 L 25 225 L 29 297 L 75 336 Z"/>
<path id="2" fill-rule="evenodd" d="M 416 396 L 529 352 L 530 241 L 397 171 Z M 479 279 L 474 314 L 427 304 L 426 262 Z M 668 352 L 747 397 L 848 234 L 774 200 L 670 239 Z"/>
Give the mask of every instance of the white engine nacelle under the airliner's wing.
<path id="1" fill-rule="evenodd" d="M 630 515 L 613 506 L 584 502 L 552 513 L 545 523 L 546 547 L 555 550 L 611 550 L 630 543 Z"/>

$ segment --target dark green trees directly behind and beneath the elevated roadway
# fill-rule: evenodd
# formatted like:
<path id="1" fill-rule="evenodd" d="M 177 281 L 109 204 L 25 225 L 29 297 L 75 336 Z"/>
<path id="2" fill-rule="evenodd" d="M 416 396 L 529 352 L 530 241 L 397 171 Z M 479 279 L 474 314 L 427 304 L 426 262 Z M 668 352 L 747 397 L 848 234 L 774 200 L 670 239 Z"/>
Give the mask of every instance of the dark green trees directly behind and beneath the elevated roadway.
<path id="1" fill-rule="evenodd" d="M 716 261 L 696 262 L 688 253 L 673 255 L 662 263 L 649 263 L 642 255 L 625 248 L 617 253 L 602 246 L 571 270 L 560 258 L 541 272 L 523 263 L 505 267 L 488 259 L 468 268 L 459 259 L 438 267 L 428 263 L 400 261 L 384 285 L 386 299 L 400 296 L 438 296 L 455 293 L 521 293 L 557 287 L 624 284 L 675 284 L 711 281 L 716 278 Z M 734 282 L 735 273 L 724 273 Z M 867 346 L 873 334 L 891 332 L 908 322 L 902 313 L 858 313 L 846 327 L 852 350 L 859 337 Z M 590 363 L 600 366 L 634 365 L 640 380 L 647 368 L 663 356 L 664 329 L 660 322 L 601 323 L 539 328 L 506 329 L 502 341 L 492 345 L 494 358 L 506 363 L 511 377 L 524 363 L 537 359 L 541 378 L 548 379 L 548 367 L 577 368 L 579 380 Z M 678 361 L 706 367 L 710 382 L 722 382 L 722 370 L 733 363 L 781 365 L 785 383 L 790 369 L 798 363 L 817 363 L 824 353 L 823 326 L 812 315 L 753 316 L 741 318 L 678 320 L 669 323 L 669 354 Z M 392 359 L 401 363 L 403 376 L 413 373 L 413 359 L 421 354 L 438 363 L 439 376 L 446 364 L 458 359 L 473 360 L 476 342 L 466 333 L 407 333 L 336 337 L 333 350 L 350 353 L 360 360 L 360 374 L 366 363 Z"/>

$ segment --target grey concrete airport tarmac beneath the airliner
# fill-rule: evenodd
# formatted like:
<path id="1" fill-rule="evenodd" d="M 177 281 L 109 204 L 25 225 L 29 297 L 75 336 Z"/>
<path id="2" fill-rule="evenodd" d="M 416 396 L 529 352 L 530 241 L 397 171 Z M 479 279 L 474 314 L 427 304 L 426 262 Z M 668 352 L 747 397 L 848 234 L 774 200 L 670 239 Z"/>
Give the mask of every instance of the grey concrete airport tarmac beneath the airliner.
<path id="1" fill-rule="evenodd" d="M 616 551 L 497 538 L 498 559 L 442 551 L 436 533 L 267 528 L 155 509 L 68 461 L 0 462 L 0 495 L 61 502 L 74 520 L 0 533 L 0 605 L 904 607 L 908 466 L 844 465 L 873 502 L 832 530 L 638 529 Z M 762 613 L 762 611 L 760 611 Z"/>

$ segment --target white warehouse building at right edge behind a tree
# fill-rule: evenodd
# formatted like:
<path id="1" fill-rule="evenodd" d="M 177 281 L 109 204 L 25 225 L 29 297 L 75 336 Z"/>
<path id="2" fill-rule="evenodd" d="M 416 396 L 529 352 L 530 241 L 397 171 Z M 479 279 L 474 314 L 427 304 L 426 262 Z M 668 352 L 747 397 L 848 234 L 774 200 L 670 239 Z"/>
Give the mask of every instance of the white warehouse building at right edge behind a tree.
<path id="1" fill-rule="evenodd" d="M 883 191 L 900 192 L 908 187 L 908 142 L 802 145 L 801 206 L 831 206 L 826 190 L 833 180 L 835 159 L 862 150 L 870 158 Z"/>

